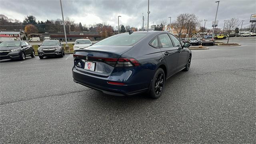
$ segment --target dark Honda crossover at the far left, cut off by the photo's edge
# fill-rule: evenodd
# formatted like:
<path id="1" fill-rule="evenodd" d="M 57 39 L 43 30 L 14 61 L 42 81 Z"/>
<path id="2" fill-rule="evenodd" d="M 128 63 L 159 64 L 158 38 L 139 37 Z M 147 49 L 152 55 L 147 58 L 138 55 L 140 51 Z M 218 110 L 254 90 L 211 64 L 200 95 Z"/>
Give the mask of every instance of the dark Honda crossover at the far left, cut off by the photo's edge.
<path id="1" fill-rule="evenodd" d="M 25 41 L 8 41 L 0 43 L 0 60 L 20 59 L 25 60 L 26 56 L 35 57 L 33 47 Z"/>

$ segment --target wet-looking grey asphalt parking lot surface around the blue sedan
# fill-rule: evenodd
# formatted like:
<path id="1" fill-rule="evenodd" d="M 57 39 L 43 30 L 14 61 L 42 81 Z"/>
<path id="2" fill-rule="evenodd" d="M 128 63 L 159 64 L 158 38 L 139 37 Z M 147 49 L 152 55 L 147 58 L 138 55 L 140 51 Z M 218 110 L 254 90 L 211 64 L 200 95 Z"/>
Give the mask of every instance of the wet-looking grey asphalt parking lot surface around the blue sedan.
<path id="1" fill-rule="evenodd" d="M 71 54 L 1 60 L 0 143 L 255 143 L 256 37 L 231 42 L 193 50 L 156 100 L 74 83 Z"/>

